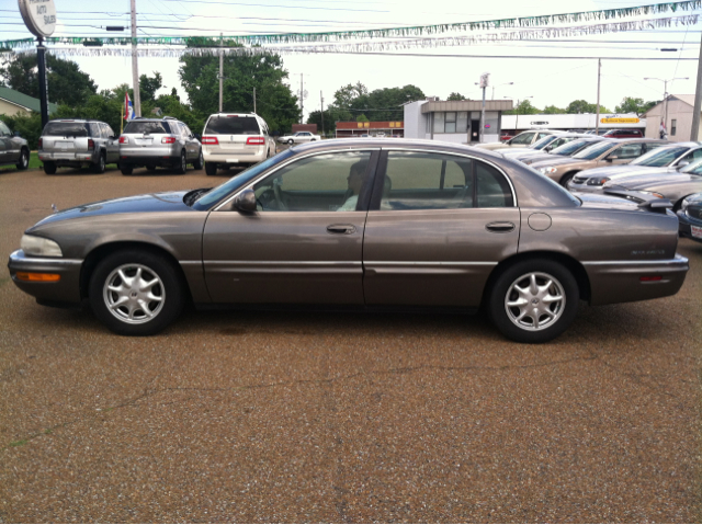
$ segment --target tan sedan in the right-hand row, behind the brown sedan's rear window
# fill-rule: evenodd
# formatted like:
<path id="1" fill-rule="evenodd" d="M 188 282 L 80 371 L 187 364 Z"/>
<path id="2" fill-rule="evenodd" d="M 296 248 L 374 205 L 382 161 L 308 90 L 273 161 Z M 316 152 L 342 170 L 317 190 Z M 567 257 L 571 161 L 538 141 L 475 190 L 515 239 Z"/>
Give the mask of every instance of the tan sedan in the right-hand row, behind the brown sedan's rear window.
<path id="1" fill-rule="evenodd" d="M 573 157 L 543 160 L 531 167 L 548 179 L 566 187 L 576 173 L 609 164 L 627 164 L 652 149 L 668 144 L 666 140 L 638 138 L 626 140 L 604 139 Z"/>

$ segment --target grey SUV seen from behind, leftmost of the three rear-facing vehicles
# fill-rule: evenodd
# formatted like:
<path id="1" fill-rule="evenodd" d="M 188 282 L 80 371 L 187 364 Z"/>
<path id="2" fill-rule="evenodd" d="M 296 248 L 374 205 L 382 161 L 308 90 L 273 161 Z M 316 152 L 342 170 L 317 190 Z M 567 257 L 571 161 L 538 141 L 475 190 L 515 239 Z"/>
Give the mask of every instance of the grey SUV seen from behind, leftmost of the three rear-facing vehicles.
<path id="1" fill-rule="evenodd" d="M 94 173 L 104 173 L 105 164 L 120 156 L 117 135 L 100 121 L 60 118 L 49 121 L 38 141 L 38 158 L 47 175 L 57 168 L 90 166 Z"/>

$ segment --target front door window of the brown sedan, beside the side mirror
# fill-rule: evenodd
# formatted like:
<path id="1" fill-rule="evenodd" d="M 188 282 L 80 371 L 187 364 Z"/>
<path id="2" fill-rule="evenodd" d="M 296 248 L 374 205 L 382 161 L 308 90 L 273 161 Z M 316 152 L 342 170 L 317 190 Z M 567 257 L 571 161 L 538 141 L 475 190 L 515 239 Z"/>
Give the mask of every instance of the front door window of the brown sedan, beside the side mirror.
<path id="1" fill-rule="evenodd" d="M 344 151 L 293 162 L 254 184 L 259 209 L 353 212 L 370 159 L 370 151 Z"/>

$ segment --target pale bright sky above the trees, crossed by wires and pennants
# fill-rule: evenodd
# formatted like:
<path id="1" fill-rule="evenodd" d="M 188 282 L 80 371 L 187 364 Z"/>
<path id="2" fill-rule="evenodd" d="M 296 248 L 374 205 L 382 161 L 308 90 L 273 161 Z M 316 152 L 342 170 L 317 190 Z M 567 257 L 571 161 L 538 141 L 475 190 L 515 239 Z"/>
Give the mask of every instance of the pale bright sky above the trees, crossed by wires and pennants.
<path id="1" fill-rule="evenodd" d="M 55 0 L 57 30 L 54 36 L 109 36 L 106 25 L 129 24 L 129 0 L 87 3 L 84 0 Z M 212 35 L 270 34 L 288 32 L 325 32 L 354 28 L 395 27 L 433 23 L 456 23 L 512 16 L 568 13 L 596 9 L 641 5 L 631 0 L 500 0 L 494 2 L 463 0 L 136 0 L 139 35 Z M 103 5 L 109 5 L 103 7 Z M 692 11 L 701 14 L 702 10 Z M 688 14 L 678 12 L 675 15 Z M 673 14 L 650 14 L 645 19 Z M 581 22 L 586 25 L 592 22 Z M 495 33 L 491 31 L 490 33 Z M 121 33 L 116 33 L 121 34 Z M 123 33 L 128 36 L 128 31 Z M 451 34 L 449 34 L 451 35 Z M 15 0 L 0 0 L 0 39 L 31 36 L 23 26 Z M 446 35 L 442 35 L 446 36 Z M 333 100 L 333 92 L 348 83 L 362 82 L 374 89 L 414 84 L 426 95 L 445 99 L 458 92 L 479 99 L 476 85 L 483 72 L 490 72 L 487 98 L 529 98 L 536 107 L 569 102 L 597 100 L 597 58 L 602 58 L 601 104 L 614 110 L 624 96 L 645 101 L 660 100 L 664 82 L 645 78 L 673 79 L 668 92 L 694 93 L 697 58 L 702 36 L 701 23 L 672 25 L 665 30 L 608 33 L 600 35 L 519 41 L 500 44 L 464 45 L 441 48 L 412 48 L 380 55 L 358 54 L 282 54 L 290 72 L 290 85 L 299 91 L 301 76 L 307 91 L 305 114 Z M 393 38 L 395 41 L 401 38 Z M 661 52 L 673 48 L 676 52 Z M 399 56 L 411 53 L 422 56 Z M 437 55 L 485 55 L 477 57 L 439 57 Z M 516 56 L 519 58 L 506 58 Z M 541 57 L 541 58 L 540 58 Z M 546 58 L 544 58 L 546 57 Z M 554 58 L 568 57 L 568 58 Z M 575 57 L 591 57 L 576 59 Z M 615 60 L 612 57 L 627 57 Z M 637 58 L 634 60 L 633 58 Z M 667 60 L 643 60 L 666 58 Z M 131 58 L 72 57 L 100 89 L 132 82 Z M 686 60 L 687 59 L 687 60 Z M 139 73 L 159 71 L 165 88 L 177 88 L 183 98 L 178 77 L 178 58 L 139 58 Z M 217 93 L 213 93 L 217 96 Z M 50 98 L 50 87 L 49 87 Z M 236 109 L 226 109 L 236 111 Z"/>

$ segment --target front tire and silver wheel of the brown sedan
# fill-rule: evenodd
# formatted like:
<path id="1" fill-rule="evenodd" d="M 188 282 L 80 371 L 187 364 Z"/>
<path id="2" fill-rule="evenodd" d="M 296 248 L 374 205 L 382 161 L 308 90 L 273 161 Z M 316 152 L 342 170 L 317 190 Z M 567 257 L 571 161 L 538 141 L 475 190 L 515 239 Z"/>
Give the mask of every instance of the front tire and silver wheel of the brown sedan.
<path id="1" fill-rule="evenodd" d="M 148 251 L 107 255 L 90 277 L 89 298 L 95 317 L 120 335 L 160 332 L 180 316 L 184 296 L 174 265 Z"/>

